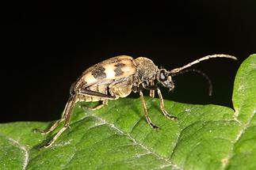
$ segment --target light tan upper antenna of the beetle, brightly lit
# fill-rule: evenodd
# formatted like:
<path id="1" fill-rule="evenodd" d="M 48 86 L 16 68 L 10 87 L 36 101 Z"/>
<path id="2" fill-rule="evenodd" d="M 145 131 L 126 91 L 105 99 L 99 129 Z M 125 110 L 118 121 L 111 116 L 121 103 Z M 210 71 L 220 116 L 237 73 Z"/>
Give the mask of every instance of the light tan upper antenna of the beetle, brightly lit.
<path id="1" fill-rule="evenodd" d="M 170 74 L 175 74 L 175 73 L 178 73 L 180 72 L 181 70 L 184 70 L 190 66 L 193 66 L 194 64 L 197 64 L 198 62 L 201 62 L 201 61 L 204 61 L 204 60 L 207 60 L 207 59 L 212 59 L 212 58 L 227 58 L 227 59 L 235 59 L 237 60 L 236 57 L 232 56 L 232 55 L 223 55 L 223 54 L 219 54 L 219 55 L 207 55 L 205 57 L 202 57 L 201 59 L 197 59 L 193 62 L 189 62 L 187 65 L 185 66 L 181 66 L 179 68 L 176 68 L 176 69 L 173 69 L 173 70 L 170 70 Z"/>

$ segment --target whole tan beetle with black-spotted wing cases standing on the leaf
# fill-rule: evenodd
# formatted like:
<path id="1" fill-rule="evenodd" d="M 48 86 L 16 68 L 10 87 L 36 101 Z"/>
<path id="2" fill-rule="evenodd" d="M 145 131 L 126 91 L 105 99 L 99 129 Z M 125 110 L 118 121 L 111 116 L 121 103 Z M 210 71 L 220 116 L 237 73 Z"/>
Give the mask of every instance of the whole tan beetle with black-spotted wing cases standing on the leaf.
<path id="1" fill-rule="evenodd" d="M 155 96 L 155 90 L 159 95 L 160 108 L 163 115 L 168 119 L 177 119 L 174 115 L 170 115 L 164 108 L 162 94 L 159 89 L 159 84 L 172 90 L 174 89 L 174 82 L 172 76 L 181 74 L 186 68 L 193 66 L 194 64 L 203 60 L 212 58 L 228 58 L 235 59 L 231 55 L 207 55 L 201 59 L 197 59 L 185 66 L 181 66 L 174 70 L 159 69 L 155 66 L 151 59 L 139 57 L 133 59 L 127 55 L 120 55 L 111 59 L 106 59 L 103 62 L 99 62 L 89 69 L 84 71 L 73 85 L 71 85 L 70 97 L 67 101 L 66 107 L 63 111 L 61 119 L 57 120 L 52 127 L 48 130 L 42 130 L 42 134 L 48 134 L 58 127 L 59 123 L 65 121 L 64 126 L 59 130 L 57 134 L 52 138 L 50 142 L 42 147 L 50 147 L 57 138 L 69 127 L 71 120 L 72 109 L 78 101 L 102 101 L 102 104 L 97 105 L 93 109 L 101 108 L 108 104 L 108 100 L 117 100 L 119 97 L 126 97 L 132 91 L 139 93 L 144 115 L 147 119 L 147 123 L 153 128 L 157 129 L 154 123 L 151 122 L 147 114 L 147 108 L 144 101 L 142 89 L 149 89 L 150 96 Z M 182 71 L 181 71 L 182 70 Z M 208 77 L 199 70 L 194 70 L 197 73 L 202 74 L 208 79 Z M 209 79 L 208 79 L 209 80 Z"/>

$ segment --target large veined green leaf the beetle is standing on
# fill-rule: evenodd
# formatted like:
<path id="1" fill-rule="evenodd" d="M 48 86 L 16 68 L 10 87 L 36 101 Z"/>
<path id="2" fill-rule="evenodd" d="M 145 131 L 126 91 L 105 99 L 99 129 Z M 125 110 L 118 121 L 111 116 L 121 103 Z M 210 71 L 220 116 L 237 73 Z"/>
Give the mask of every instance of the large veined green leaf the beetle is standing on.
<path id="1" fill-rule="evenodd" d="M 78 103 L 66 130 L 51 148 L 47 136 L 34 133 L 52 123 L 0 124 L 0 169 L 256 169 L 256 55 L 235 77 L 231 108 L 181 104 L 146 97 L 152 130 L 139 99 L 109 101 L 97 111 Z M 227 97 L 227 96 L 224 96 Z"/>

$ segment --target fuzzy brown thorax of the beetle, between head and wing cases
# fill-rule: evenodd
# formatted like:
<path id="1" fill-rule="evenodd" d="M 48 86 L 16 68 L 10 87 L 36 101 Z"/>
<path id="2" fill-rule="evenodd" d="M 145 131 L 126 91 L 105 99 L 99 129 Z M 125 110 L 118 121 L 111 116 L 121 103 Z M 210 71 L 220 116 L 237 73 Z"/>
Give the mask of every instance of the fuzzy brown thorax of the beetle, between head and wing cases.
<path id="1" fill-rule="evenodd" d="M 151 59 L 139 57 L 134 61 L 136 62 L 136 76 L 139 77 L 140 81 L 155 79 L 158 68 Z"/>

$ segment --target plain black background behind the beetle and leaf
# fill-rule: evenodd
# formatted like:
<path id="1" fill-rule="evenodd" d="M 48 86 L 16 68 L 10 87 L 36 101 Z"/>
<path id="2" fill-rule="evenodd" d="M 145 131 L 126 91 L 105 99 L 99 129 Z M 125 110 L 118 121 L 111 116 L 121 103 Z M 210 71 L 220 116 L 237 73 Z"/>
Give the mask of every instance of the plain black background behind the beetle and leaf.
<path id="1" fill-rule="evenodd" d="M 171 70 L 216 53 L 243 62 L 256 51 L 255 1 L 116 5 L 27 6 L 2 14 L 0 122 L 58 119 L 71 83 L 89 66 L 116 55 L 146 56 Z M 231 107 L 238 66 L 229 59 L 193 66 L 211 77 L 211 97 L 207 82 L 193 73 L 174 77 L 174 93 L 163 89 L 164 97 Z"/>

